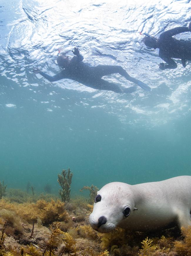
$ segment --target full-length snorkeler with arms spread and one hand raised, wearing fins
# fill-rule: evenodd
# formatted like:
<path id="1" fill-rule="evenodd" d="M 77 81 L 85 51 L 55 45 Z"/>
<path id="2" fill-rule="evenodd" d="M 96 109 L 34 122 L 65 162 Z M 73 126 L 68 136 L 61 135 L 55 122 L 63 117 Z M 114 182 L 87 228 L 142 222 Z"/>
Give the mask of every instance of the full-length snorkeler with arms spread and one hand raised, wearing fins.
<path id="1" fill-rule="evenodd" d="M 136 86 L 121 89 L 117 84 L 101 79 L 102 76 L 118 73 L 124 76 L 128 81 L 131 81 L 141 88 L 150 91 L 150 87 L 145 83 L 131 77 L 121 66 L 98 65 L 89 66 L 83 61 L 83 56 L 80 54 L 78 48 L 72 51 L 75 56 L 71 59 L 62 53 L 57 57 L 58 66 L 63 70 L 55 76 L 49 76 L 38 68 L 33 68 L 35 74 L 41 74 L 44 78 L 51 82 L 61 80 L 63 78 L 71 79 L 84 84 L 88 87 L 98 90 L 108 90 L 116 93 L 131 93 L 136 91 Z"/>

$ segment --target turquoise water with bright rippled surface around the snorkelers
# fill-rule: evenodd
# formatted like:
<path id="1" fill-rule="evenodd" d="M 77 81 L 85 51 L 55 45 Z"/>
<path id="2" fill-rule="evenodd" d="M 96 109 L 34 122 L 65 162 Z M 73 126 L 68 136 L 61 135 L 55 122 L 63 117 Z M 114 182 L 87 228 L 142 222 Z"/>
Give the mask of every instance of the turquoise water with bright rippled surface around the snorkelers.
<path id="1" fill-rule="evenodd" d="M 73 195 L 84 185 L 190 175 L 191 65 L 177 60 L 177 69 L 161 71 L 158 50 L 147 50 L 139 32 L 158 37 L 187 26 L 191 6 L 156 2 L 1 0 L 0 180 L 7 188 L 25 190 L 29 181 L 57 193 L 58 173 L 68 167 Z M 78 47 L 92 66 L 123 66 L 152 91 L 115 94 L 33 74 L 33 66 L 60 71 L 59 47 L 70 56 Z M 130 85 L 118 74 L 105 79 Z"/>

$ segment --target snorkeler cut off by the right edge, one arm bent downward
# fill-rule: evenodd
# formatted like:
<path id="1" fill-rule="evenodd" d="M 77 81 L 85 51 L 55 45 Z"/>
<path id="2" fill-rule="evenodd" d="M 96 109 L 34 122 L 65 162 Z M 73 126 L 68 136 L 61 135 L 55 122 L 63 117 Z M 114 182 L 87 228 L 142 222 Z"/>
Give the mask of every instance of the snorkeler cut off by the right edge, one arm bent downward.
<path id="1" fill-rule="evenodd" d="M 166 62 L 160 63 L 160 69 L 176 69 L 177 64 L 172 58 L 181 59 L 182 66 L 186 67 L 186 60 L 191 60 L 191 41 L 177 40 L 172 36 L 189 31 L 191 32 L 191 22 L 188 27 L 175 27 L 163 32 L 159 39 L 143 33 L 143 35 L 146 35 L 143 42 L 147 48 L 159 48 L 159 57 Z"/>

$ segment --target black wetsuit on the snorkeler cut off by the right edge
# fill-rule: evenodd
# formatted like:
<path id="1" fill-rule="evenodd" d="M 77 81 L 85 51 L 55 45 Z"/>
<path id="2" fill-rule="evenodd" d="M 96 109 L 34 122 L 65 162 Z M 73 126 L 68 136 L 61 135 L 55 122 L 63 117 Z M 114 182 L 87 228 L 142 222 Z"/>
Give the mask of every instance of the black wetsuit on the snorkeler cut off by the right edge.
<path id="1" fill-rule="evenodd" d="M 172 37 L 173 35 L 189 31 L 188 27 L 176 27 L 160 35 L 158 39 L 159 57 L 168 64 L 165 65 L 165 69 L 177 68 L 177 64 L 172 58 L 181 59 L 183 61 L 191 60 L 191 41 L 177 40 Z"/>

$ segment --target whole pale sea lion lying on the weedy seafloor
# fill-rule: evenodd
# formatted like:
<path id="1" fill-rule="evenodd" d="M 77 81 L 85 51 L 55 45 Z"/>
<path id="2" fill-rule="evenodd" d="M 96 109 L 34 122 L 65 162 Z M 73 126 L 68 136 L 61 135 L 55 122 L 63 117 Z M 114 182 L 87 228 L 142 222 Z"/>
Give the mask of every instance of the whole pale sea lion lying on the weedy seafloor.
<path id="1" fill-rule="evenodd" d="M 89 217 L 93 229 L 107 233 L 191 225 L 191 176 L 129 185 L 111 182 L 97 193 Z"/>

